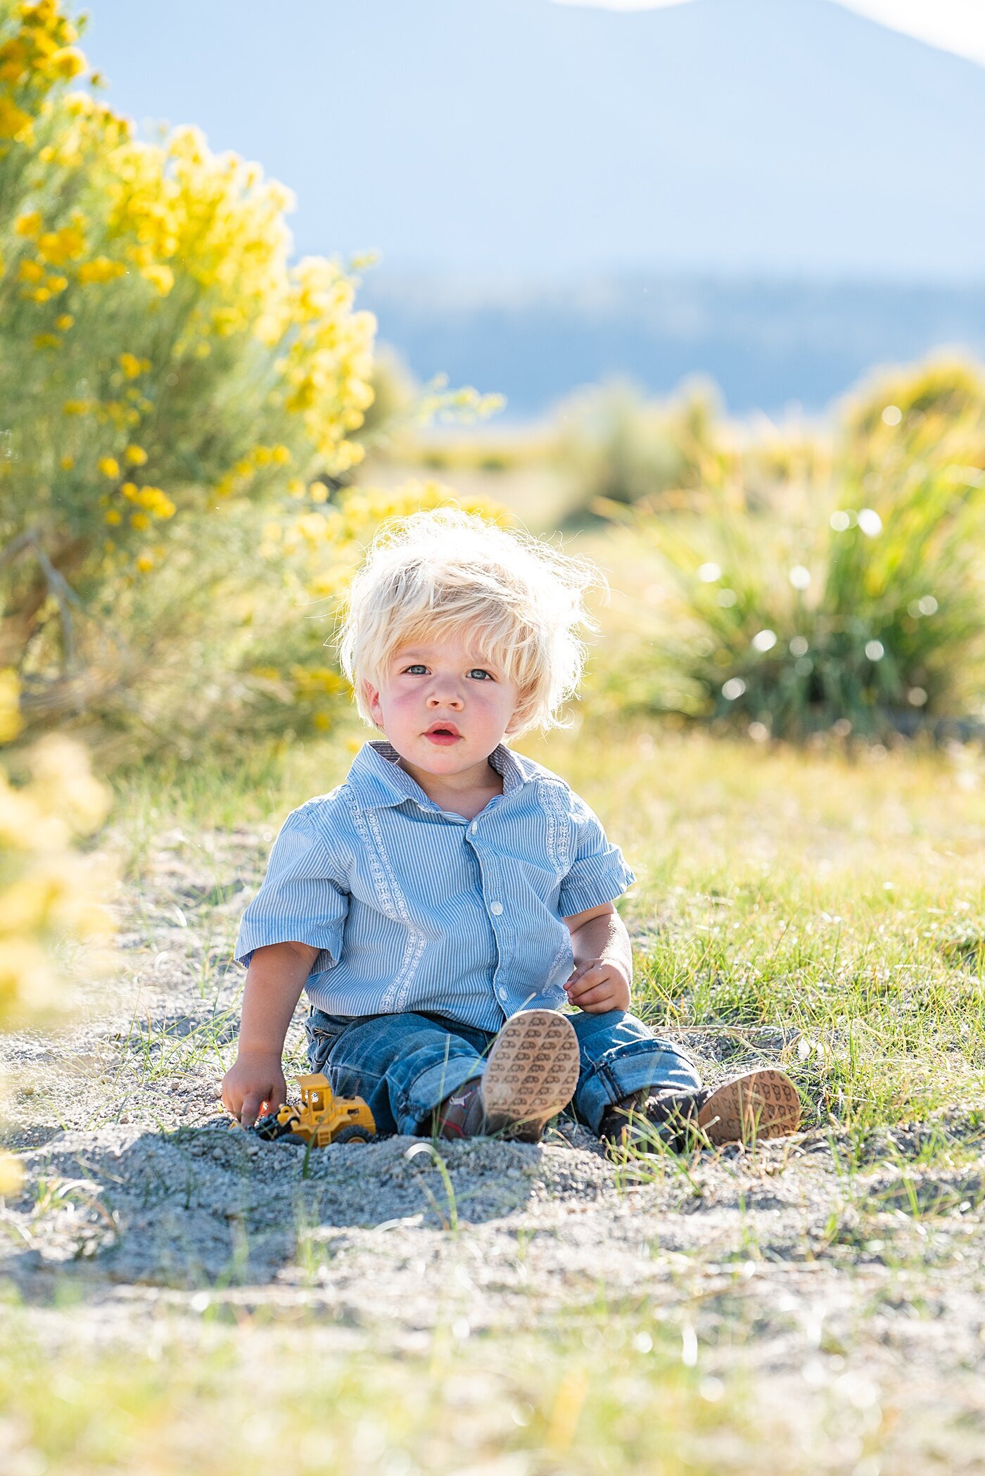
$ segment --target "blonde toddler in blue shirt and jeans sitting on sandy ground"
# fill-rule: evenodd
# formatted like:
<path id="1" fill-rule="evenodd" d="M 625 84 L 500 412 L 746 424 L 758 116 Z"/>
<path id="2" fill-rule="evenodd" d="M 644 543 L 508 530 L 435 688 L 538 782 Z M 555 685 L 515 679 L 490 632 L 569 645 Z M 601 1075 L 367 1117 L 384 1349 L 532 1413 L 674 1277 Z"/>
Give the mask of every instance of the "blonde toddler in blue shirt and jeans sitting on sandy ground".
<path id="1" fill-rule="evenodd" d="M 285 1101 L 302 989 L 308 1057 L 379 1132 L 537 1141 L 571 1107 L 609 1142 L 795 1131 L 777 1070 L 703 1092 L 630 1013 L 615 900 L 636 880 L 563 779 L 510 739 L 578 688 L 584 561 L 457 509 L 394 520 L 354 580 L 341 658 L 383 735 L 285 821 L 236 958 L 248 965 L 223 1101 Z M 566 1013 L 563 1013 L 566 1011 Z"/>

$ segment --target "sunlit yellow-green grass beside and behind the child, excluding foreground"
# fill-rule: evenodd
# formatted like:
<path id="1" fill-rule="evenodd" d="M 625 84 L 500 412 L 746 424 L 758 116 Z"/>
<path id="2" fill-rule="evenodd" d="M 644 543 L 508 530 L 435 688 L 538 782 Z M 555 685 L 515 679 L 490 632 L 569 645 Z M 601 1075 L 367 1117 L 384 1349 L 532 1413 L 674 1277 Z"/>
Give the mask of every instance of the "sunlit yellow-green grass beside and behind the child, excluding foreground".
<path id="1" fill-rule="evenodd" d="M 270 832 L 344 776 L 360 738 L 131 772 L 116 812 L 131 869 L 168 825 L 199 862 L 201 827 Z M 774 1027 L 815 1122 L 851 1131 L 981 1094 L 981 754 L 851 759 L 644 726 L 523 747 L 588 799 L 637 871 L 622 906 L 652 1024 L 737 1042 Z"/>

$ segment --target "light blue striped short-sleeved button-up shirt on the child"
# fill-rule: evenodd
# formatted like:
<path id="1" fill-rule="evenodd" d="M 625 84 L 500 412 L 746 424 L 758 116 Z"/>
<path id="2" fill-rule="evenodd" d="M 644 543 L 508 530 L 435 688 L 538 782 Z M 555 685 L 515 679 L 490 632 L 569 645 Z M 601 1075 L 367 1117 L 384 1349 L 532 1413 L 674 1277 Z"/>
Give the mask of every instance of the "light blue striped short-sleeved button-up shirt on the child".
<path id="1" fill-rule="evenodd" d="M 503 776 L 472 821 L 442 810 L 386 741 L 345 784 L 283 824 L 246 908 L 236 959 L 267 943 L 319 949 L 307 990 L 329 1014 L 444 1014 L 498 1030 L 516 1010 L 565 1004 L 562 921 L 636 877 L 597 816 L 550 769 L 504 744 Z"/>

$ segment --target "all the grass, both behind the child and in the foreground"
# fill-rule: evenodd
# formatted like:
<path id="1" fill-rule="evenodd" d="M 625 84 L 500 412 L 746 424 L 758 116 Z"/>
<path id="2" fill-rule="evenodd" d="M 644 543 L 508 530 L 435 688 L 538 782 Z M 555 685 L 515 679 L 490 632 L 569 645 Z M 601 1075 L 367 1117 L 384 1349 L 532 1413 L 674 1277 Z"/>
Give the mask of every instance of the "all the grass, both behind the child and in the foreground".
<path id="1" fill-rule="evenodd" d="M 357 744 L 363 734 L 348 737 Z M 902 1290 L 891 1280 L 867 1292 L 873 1315 L 879 1297 L 905 1296 L 914 1317 L 929 1317 L 926 1278 L 964 1246 L 963 1216 L 973 1219 L 982 1200 L 982 754 L 852 757 L 600 722 L 522 747 L 584 794 L 637 871 L 622 909 L 637 940 L 638 1013 L 693 1032 L 723 1072 L 770 1055 L 796 1079 L 845 1188 L 805 1261 L 852 1277 L 876 1258 Z M 332 788 L 349 762 L 336 738 L 255 750 L 240 765 L 202 756 L 131 770 L 118 779 L 114 844 L 137 877 L 161 832 L 178 830 L 171 844 L 221 900 L 232 862 L 221 844 L 209 850 L 209 832 L 248 827 L 262 852 L 286 812 Z M 240 855 L 260 862 L 242 840 Z M 202 1055 L 229 1057 L 218 1041 L 226 1024 L 223 1011 L 189 1035 L 134 1021 L 127 1089 L 142 1073 L 150 1083 Z M 627 1187 L 649 1175 L 703 1191 L 700 1154 L 628 1160 L 619 1175 Z M 432 1184 L 454 1235 L 467 1207 L 448 1200 L 436 1175 Z M 597 1305 L 522 1334 L 469 1334 L 451 1320 L 400 1353 L 367 1351 L 314 1305 L 274 1314 L 202 1293 L 195 1356 L 177 1312 L 149 1320 L 146 1348 L 93 1355 L 71 1308 L 49 1320 L 44 1348 L 27 1309 L 12 1308 L 0 1315 L 0 1452 L 6 1439 L 12 1469 L 29 1452 L 27 1470 L 55 1476 L 232 1476 L 271 1461 L 301 1476 L 703 1476 L 840 1470 L 824 1452 L 848 1442 L 845 1470 L 935 1469 L 929 1455 L 907 1467 L 899 1442 L 910 1411 L 892 1389 L 873 1404 L 846 1371 L 842 1395 L 829 1379 L 787 1407 L 715 1348 L 721 1337 L 764 1336 L 746 1325 L 753 1312 L 742 1290 L 743 1268 L 762 1261 L 755 1209 L 746 1225 L 740 1259 L 720 1258 L 727 1284 L 711 1294 L 706 1281 L 699 1290 L 696 1252 L 693 1271 L 680 1258 L 672 1303 L 612 1306 L 600 1286 Z M 317 1227 L 298 1230 L 299 1263 L 314 1278 Z M 975 1234 L 969 1224 L 969 1263 Z M 460 1235 L 464 1255 L 467 1230 Z M 532 1238 L 518 1235 L 518 1262 Z M 784 1315 L 776 1311 L 773 1333 Z M 848 1351 L 821 1342 L 820 1352 Z M 930 1433 L 920 1451 L 933 1446 Z"/>

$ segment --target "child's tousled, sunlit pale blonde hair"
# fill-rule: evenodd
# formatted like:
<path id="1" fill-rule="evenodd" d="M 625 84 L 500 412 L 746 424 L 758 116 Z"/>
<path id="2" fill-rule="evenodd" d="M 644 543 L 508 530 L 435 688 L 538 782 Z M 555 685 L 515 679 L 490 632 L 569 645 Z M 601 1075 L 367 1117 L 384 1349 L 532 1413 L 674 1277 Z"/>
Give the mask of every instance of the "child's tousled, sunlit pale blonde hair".
<path id="1" fill-rule="evenodd" d="M 562 726 L 557 710 L 578 689 L 587 655 L 578 630 L 596 630 L 585 592 L 605 576 L 526 533 L 459 508 L 391 518 L 352 580 L 338 646 L 360 716 L 364 683 L 379 686 L 391 654 L 420 639 L 462 638 L 516 683 L 510 734 Z"/>

